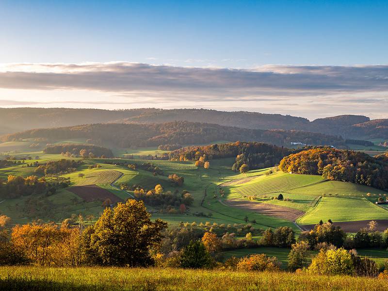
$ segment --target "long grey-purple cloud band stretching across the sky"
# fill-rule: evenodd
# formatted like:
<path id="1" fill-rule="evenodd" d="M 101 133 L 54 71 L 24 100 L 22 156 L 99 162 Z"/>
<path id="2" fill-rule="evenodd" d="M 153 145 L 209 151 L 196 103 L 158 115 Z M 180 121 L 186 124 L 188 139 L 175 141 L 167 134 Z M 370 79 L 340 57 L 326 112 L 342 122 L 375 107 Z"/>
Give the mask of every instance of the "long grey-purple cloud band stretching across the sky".
<path id="1" fill-rule="evenodd" d="M 178 67 L 139 63 L 10 64 L 2 66 L 0 87 L 87 89 L 111 92 L 162 90 L 275 90 L 333 92 L 387 91 L 388 65 L 291 66 L 254 69 Z"/>

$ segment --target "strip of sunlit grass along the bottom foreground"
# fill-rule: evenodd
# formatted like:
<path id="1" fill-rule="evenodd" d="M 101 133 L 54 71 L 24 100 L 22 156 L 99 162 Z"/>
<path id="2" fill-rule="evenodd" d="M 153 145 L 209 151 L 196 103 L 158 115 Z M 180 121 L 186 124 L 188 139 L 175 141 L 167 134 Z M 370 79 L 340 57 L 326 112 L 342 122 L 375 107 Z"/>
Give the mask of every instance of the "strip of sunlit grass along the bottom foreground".
<path id="1" fill-rule="evenodd" d="M 0 290 L 387 290 L 387 279 L 160 268 L 1 267 Z"/>

